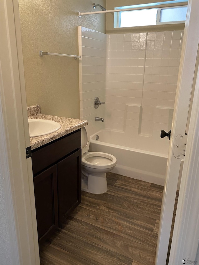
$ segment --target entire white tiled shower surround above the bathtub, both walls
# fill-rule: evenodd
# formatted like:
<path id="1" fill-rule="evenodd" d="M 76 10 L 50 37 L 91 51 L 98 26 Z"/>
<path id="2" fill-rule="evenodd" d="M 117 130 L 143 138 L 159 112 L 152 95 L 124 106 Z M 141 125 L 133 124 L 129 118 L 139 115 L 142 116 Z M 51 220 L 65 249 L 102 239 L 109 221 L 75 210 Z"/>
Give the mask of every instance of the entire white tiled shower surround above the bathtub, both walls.
<path id="1" fill-rule="evenodd" d="M 81 118 L 90 133 L 160 137 L 171 129 L 182 39 L 183 31 L 105 35 L 79 27 Z M 95 96 L 106 104 L 95 109 Z"/>

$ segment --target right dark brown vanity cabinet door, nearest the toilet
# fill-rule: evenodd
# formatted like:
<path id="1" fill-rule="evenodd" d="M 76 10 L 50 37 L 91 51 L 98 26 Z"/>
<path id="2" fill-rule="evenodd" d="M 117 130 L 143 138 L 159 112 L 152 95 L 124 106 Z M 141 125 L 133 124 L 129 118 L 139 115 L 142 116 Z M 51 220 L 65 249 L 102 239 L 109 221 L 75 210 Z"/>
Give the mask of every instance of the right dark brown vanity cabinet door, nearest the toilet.
<path id="1" fill-rule="evenodd" d="M 69 211 L 81 203 L 81 149 L 57 164 L 59 226 Z"/>

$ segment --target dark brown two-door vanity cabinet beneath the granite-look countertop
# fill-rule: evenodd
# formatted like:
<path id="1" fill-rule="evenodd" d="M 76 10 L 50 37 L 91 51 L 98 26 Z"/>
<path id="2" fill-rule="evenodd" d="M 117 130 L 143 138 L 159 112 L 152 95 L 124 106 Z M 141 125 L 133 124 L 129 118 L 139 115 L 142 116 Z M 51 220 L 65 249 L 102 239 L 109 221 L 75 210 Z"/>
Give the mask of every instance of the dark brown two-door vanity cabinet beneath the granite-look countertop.
<path id="1" fill-rule="evenodd" d="M 81 130 L 32 151 L 39 242 L 81 203 Z"/>

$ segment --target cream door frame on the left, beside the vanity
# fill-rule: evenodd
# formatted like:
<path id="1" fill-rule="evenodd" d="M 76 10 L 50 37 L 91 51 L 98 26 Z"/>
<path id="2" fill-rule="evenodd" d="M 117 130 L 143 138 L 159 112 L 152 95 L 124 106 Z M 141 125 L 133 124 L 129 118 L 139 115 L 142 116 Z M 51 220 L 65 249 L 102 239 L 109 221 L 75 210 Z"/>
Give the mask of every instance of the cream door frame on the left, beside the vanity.
<path id="1" fill-rule="evenodd" d="M 5 216 L 2 258 L 7 264 L 39 265 L 21 31 L 17 0 L 0 1 L 0 179 Z"/>

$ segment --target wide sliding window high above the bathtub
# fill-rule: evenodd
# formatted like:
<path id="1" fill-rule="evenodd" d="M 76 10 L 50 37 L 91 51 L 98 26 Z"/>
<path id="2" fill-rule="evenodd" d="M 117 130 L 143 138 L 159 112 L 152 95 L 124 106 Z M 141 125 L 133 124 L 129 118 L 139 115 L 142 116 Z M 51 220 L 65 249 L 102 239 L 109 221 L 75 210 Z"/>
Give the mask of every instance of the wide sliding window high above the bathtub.
<path id="1" fill-rule="evenodd" d="M 136 6 L 115 7 L 115 9 L 140 7 L 140 10 L 115 12 L 114 28 L 185 23 L 187 6 L 168 6 L 164 8 L 155 8 L 155 6 L 161 4 L 173 4 L 182 2 L 187 2 L 187 0 L 175 0 Z M 142 9 L 142 7 L 148 6 L 154 8 Z"/>

